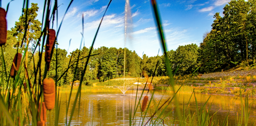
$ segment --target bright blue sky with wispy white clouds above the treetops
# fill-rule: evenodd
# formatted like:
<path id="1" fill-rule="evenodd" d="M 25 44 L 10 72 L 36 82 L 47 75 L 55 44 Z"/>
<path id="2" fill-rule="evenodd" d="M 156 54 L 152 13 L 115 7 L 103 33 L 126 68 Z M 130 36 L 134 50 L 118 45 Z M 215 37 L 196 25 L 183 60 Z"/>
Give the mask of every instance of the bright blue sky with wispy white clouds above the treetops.
<path id="1" fill-rule="evenodd" d="M 206 31 L 211 31 L 213 15 L 220 12 L 230 0 L 178 0 L 157 1 L 161 13 L 163 29 L 168 50 L 175 50 L 179 45 L 197 44 L 202 42 L 202 36 Z M 2 0 L 2 7 L 6 9 L 10 1 Z M 11 2 L 7 13 L 7 29 L 14 27 L 21 15 L 21 0 Z M 42 21 L 43 2 L 30 0 L 30 3 L 38 3 L 37 19 Z M 59 21 L 70 1 L 59 0 Z M 58 36 L 58 47 L 66 49 L 68 53 L 79 49 L 82 32 L 82 13 L 84 14 L 84 43 L 82 46 L 91 46 L 95 32 L 99 26 L 101 17 L 109 1 L 107 0 L 75 0 L 63 21 Z M 53 6 L 53 4 L 52 4 Z M 142 52 L 148 56 L 156 56 L 159 43 L 152 9 L 149 0 L 130 0 L 132 13 L 132 37 L 127 41 L 126 47 L 135 51 L 139 56 Z M 94 48 L 124 47 L 124 8 L 125 0 L 113 0 L 102 22 Z M 58 23 L 60 24 L 60 23 Z M 54 26 L 56 29 L 56 26 Z M 71 39 L 70 47 L 69 40 Z M 161 51 L 159 54 L 161 55 Z"/>

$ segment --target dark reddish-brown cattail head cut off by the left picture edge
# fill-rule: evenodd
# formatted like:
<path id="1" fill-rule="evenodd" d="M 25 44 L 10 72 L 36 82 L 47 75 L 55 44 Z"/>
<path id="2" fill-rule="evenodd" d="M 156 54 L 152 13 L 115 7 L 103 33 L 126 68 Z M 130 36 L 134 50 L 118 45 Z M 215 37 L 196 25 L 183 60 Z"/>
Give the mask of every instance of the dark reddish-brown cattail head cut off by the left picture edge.
<path id="1" fill-rule="evenodd" d="M 7 21 L 5 17 L 6 17 L 6 12 L 3 8 L 0 7 L 0 46 L 6 43 Z"/>

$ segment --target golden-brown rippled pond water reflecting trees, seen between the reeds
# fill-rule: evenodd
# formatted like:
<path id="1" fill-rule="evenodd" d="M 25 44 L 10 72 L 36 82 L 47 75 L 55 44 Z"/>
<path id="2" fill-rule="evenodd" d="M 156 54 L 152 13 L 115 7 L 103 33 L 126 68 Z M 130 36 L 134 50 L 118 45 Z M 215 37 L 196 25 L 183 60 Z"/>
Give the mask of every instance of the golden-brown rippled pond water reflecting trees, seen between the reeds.
<path id="1" fill-rule="evenodd" d="M 129 125 L 129 106 L 132 106 L 132 110 L 134 109 L 135 102 L 135 91 L 129 90 L 126 93 L 126 96 L 122 93 L 113 93 L 113 92 L 87 92 L 81 94 L 81 103 L 80 108 L 79 105 L 76 104 L 75 112 L 73 115 L 73 119 L 71 121 L 71 125 Z M 141 94 L 141 91 L 139 91 Z M 157 91 L 154 95 L 154 99 L 156 103 L 151 103 L 150 108 L 151 112 L 148 112 L 147 117 L 144 120 L 144 123 L 148 121 L 150 115 L 154 112 L 155 104 L 161 99 L 163 95 L 162 91 Z M 69 93 L 61 93 L 61 106 L 60 106 L 60 115 L 59 115 L 59 125 L 66 124 L 66 104 Z M 162 99 L 162 103 L 167 100 L 167 98 L 171 97 L 172 94 L 165 93 Z M 179 99 L 180 108 L 183 108 L 183 101 L 185 105 L 188 103 L 191 94 L 177 94 Z M 149 94 L 149 98 L 150 98 Z M 210 97 L 210 95 L 196 94 L 198 106 L 203 106 L 205 101 Z M 143 96 L 142 96 L 143 98 Z M 73 102 L 75 99 L 75 93 L 71 96 L 71 104 L 69 106 L 68 117 L 69 121 L 70 111 L 73 106 Z M 142 99 L 141 99 L 142 100 Z M 241 113 L 241 102 L 240 98 L 233 96 L 219 96 L 213 95 L 211 96 L 208 106 L 211 105 L 210 114 L 217 112 L 217 119 L 220 124 L 222 124 L 222 120 L 225 119 L 227 112 L 229 113 L 228 121 L 230 125 L 235 125 L 237 113 Z M 137 100 L 138 102 L 138 100 Z M 253 122 L 256 116 L 256 104 L 252 99 L 249 101 L 252 103 L 251 112 L 250 112 L 250 121 Z M 190 113 L 194 114 L 196 112 L 195 98 L 192 97 L 189 104 Z M 171 112 L 172 111 L 172 112 Z M 54 112 L 52 110 L 47 117 L 50 122 L 47 122 L 47 125 L 53 125 L 54 123 Z M 164 120 L 164 122 L 158 122 L 159 125 L 170 125 L 175 115 L 175 107 L 172 104 L 169 105 L 165 114 L 171 112 L 171 114 Z M 183 112 L 182 112 L 183 113 Z M 187 113 L 187 112 L 186 112 Z M 140 110 L 137 111 L 135 119 L 135 125 L 141 124 Z M 164 123 L 164 124 L 163 124 Z"/>

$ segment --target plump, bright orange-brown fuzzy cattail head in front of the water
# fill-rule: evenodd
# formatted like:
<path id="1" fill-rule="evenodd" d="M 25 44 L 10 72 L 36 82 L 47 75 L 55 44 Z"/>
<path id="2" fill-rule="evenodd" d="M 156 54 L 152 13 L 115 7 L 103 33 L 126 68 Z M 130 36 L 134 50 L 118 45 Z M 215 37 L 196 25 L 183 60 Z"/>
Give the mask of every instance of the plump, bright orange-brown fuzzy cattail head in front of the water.
<path id="1" fill-rule="evenodd" d="M 55 82 L 52 78 L 45 78 L 43 81 L 44 103 L 47 110 L 52 110 L 55 105 Z"/>

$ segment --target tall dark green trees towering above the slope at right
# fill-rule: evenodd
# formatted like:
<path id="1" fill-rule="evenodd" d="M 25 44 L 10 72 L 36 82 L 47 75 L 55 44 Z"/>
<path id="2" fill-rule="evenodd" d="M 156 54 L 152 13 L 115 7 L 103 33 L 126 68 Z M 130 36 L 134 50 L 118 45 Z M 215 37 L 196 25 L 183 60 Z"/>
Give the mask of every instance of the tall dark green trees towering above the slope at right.
<path id="1" fill-rule="evenodd" d="M 256 57 L 256 19 L 254 1 L 230 1 L 223 8 L 223 17 L 216 13 L 211 32 L 200 44 L 201 72 L 221 71 Z"/>

